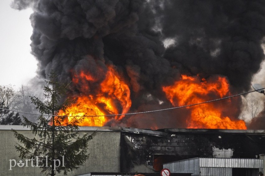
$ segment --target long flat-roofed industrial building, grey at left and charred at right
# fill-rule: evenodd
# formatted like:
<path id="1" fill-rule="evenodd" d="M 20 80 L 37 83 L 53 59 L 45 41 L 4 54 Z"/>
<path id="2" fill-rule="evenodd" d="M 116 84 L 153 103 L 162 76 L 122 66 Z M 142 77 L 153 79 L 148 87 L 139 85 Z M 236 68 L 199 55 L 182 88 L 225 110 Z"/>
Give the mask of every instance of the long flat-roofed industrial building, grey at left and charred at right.
<path id="1" fill-rule="evenodd" d="M 18 141 L 11 129 L 32 137 L 29 128 L 0 125 L 1 174 L 40 175 L 40 169 L 37 167 L 16 166 L 10 170 L 9 160 L 20 159 L 15 150 Z M 244 161 L 245 159 L 263 159 L 265 154 L 264 130 L 80 127 L 79 133 L 82 135 L 95 130 L 97 134 L 88 146 L 90 158 L 83 166 L 68 175 L 95 172 L 159 173 L 165 167 L 165 163 L 180 160 L 236 158 Z M 264 162 L 259 161 L 259 164 Z M 255 170 L 259 169 L 264 173 L 263 168 L 264 166 L 259 165 Z M 194 171 L 192 173 L 196 174 Z"/>

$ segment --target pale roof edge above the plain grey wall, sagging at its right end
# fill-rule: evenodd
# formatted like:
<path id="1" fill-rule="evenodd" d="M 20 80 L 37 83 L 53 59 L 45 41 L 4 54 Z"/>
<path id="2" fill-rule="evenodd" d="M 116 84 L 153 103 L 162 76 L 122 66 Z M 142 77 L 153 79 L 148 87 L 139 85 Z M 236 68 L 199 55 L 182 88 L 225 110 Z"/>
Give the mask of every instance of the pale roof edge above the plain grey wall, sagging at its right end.
<path id="1" fill-rule="evenodd" d="M 0 125 L 0 130 L 30 130 L 30 128 L 23 127 L 22 125 Z M 116 131 L 116 132 L 129 132 L 135 134 L 145 134 L 157 137 L 167 137 L 167 132 L 154 131 L 149 129 L 138 129 L 130 127 L 79 127 L 78 131 Z"/>

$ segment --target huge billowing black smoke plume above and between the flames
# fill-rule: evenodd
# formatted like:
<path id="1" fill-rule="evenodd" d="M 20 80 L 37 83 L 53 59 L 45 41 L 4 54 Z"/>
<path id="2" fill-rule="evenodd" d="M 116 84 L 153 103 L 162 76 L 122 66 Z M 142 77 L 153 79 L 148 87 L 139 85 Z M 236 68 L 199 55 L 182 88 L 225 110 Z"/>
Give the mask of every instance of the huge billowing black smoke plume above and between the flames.
<path id="1" fill-rule="evenodd" d="M 99 85 L 114 64 L 131 89 L 132 112 L 169 107 L 161 86 L 182 73 L 227 76 L 235 92 L 249 90 L 264 59 L 263 0 L 14 0 L 12 7 L 34 10 L 31 48 L 40 76 L 55 70 L 71 81 L 85 70 Z M 163 41 L 173 42 L 165 48 Z M 96 88 L 75 86 L 72 94 Z M 107 125 L 185 127 L 187 114 L 134 115 Z"/>

